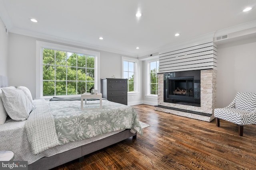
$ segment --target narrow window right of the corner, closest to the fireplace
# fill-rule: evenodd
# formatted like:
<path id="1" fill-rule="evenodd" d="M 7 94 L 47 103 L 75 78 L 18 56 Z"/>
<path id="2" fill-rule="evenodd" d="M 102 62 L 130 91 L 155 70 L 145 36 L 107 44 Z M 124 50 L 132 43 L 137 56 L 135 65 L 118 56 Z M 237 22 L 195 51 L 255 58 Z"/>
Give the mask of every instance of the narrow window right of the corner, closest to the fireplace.
<path id="1" fill-rule="evenodd" d="M 157 89 L 158 89 L 157 73 L 159 71 L 159 61 L 150 61 L 148 62 L 148 64 L 149 64 L 149 85 L 150 85 L 149 94 L 157 95 Z"/>

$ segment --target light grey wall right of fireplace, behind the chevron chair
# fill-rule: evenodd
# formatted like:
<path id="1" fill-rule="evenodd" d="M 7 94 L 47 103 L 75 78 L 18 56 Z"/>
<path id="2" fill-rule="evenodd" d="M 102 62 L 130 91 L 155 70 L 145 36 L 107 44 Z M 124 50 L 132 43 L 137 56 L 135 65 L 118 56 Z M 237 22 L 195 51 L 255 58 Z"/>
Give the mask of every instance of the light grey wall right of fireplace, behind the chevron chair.
<path id="1" fill-rule="evenodd" d="M 256 38 L 218 45 L 217 107 L 228 106 L 236 92 L 256 93 Z"/>

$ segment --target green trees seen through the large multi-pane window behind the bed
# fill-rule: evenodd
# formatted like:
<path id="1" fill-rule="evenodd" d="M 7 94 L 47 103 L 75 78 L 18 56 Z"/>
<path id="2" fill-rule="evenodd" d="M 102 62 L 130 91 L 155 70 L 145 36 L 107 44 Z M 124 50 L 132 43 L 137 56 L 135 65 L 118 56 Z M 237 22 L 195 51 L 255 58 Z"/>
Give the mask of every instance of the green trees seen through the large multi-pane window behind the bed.
<path id="1" fill-rule="evenodd" d="M 94 56 L 43 49 L 43 96 L 76 95 L 94 87 Z"/>

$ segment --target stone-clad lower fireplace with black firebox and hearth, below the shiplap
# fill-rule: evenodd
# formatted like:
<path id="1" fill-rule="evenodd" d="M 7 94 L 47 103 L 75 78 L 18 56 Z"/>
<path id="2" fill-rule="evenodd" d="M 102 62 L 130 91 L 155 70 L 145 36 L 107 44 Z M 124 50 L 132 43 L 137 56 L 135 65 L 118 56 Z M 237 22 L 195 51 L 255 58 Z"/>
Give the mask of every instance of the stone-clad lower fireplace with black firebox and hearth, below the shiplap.
<path id="1" fill-rule="evenodd" d="M 216 108 L 216 73 L 217 70 L 214 69 L 158 73 L 158 105 L 155 109 L 211 121 L 214 119 L 213 109 Z M 172 88 L 172 84 L 175 84 L 175 89 Z M 182 92 L 175 94 L 177 87 L 183 90 L 183 94 Z M 194 90 L 191 91 L 190 88 Z M 185 100 L 180 97 L 184 97 Z M 186 101 L 186 97 L 189 100 Z"/>

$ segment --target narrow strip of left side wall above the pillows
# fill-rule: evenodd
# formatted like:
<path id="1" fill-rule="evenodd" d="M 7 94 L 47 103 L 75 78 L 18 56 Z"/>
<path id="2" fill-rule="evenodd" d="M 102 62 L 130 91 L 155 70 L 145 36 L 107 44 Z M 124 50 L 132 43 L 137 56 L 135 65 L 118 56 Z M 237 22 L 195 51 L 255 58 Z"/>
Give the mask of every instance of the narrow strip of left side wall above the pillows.
<path id="1" fill-rule="evenodd" d="M 8 35 L 0 18 L 0 75 L 7 76 Z"/>

